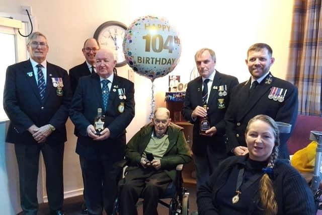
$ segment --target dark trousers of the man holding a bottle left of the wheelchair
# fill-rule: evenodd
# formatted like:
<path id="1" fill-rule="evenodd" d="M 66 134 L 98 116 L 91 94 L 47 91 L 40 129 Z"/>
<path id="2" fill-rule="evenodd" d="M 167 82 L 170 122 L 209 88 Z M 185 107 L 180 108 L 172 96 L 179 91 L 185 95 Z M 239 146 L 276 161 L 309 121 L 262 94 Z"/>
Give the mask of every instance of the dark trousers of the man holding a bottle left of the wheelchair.
<path id="1" fill-rule="evenodd" d="M 107 155 L 96 160 L 79 157 L 84 176 L 85 203 L 89 214 L 100 215 L 103 207 L 107 214 L 112 214 L 117 193 L 117 184 L 122 169 L 114 167 Z"/>

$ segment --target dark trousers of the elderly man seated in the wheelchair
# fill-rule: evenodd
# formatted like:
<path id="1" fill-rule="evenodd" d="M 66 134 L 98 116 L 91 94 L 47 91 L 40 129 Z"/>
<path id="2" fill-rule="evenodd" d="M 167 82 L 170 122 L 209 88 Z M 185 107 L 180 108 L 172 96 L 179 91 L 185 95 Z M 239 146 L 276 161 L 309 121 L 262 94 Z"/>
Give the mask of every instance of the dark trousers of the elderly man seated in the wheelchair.
<path id="1" fill-rule="evenodd" d="M 135 204 L 139 197 L 143 198 L 143 214 L 157 214 L 159 196 L 172 182 L 163 170 L 154 168 L 138 168 L 127 172 L 120 181 L 120 214 L 137 214 Z"/>

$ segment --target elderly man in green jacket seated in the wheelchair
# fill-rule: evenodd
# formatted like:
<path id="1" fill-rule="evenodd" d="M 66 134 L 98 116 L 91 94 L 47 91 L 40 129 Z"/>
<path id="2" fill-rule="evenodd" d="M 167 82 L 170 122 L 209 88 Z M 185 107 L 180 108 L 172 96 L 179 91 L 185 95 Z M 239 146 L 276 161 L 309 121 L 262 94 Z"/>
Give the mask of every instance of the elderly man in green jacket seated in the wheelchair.
<path id="1" fill-rule="evenodd" d="M 125 178 L 119 182 L 116 200 L 119 205 L 115 210 L 119 208 L 121 215 L 137 214 L 136 202 L 143 198 L 143 213 L 151 215 L 157 214 L 158 199 L 176 181 L 177 165 L 190 162 L 191 152 L 183 128 L 171 123 L 168 109 L 157 108 L 152 122 L 143 126 L 128 142 L 125 157 L 128 167 Z M 182 192 L 180 188 L 177 191 Z M 177 214 L 181 214 L 181 209 Z"/>

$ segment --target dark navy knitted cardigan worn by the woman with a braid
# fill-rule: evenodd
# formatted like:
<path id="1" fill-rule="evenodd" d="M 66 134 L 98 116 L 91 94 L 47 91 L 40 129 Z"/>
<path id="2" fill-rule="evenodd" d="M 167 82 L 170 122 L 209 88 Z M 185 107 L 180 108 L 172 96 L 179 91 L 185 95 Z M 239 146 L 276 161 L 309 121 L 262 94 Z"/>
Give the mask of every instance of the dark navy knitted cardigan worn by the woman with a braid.
<path id="1" fill-rule="evenodd" d="M 207 182 L 197 192 L 199 215 L 219 215 L 216 208 L 216 195 L 218 190 L 226 183 L 232 168 L 244 165 L 246 156 L 233 156 L 224 160 Z M 274 165 L 273 188 L 277 202 L 277 215 L 313 215 L 316 213 L 313 193 L 304 178 L 290 165 L 277 160 Z M 247 215 L 263 214 L 257 207 L 259 193 L 250 201 L 253 202 Z"/>

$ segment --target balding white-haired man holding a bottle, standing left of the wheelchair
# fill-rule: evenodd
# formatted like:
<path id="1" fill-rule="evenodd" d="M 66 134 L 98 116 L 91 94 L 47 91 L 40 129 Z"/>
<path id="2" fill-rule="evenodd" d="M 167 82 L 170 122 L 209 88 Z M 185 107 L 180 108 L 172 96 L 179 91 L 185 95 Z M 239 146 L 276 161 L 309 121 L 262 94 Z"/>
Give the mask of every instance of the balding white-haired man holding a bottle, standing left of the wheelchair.
<path id="1" fill-rule="evenodd" d="M 97 74 L 79 79 L 69 110 L 70 119 L 79 131 L 76 153 L 83 168 L 89 214 L 102 214 L 103 207 L 107 214 L 112 213 L 122 172 L 113 164 L 124 159 L 125 128 L 134 117 L 134 84 L 115 76 L 115 65 L 112 51 L 99 50 Z M 104 82 L 108 82 L 108 89 L 104 88 Z M 106 91 L 109 94 L 106 111 L 103 111 L 105 129 L 98 135 L 93 124 L 98 108 L 104 109 Z"/>

